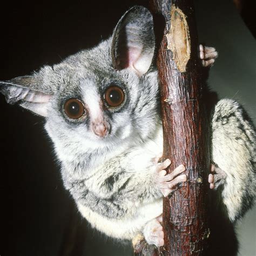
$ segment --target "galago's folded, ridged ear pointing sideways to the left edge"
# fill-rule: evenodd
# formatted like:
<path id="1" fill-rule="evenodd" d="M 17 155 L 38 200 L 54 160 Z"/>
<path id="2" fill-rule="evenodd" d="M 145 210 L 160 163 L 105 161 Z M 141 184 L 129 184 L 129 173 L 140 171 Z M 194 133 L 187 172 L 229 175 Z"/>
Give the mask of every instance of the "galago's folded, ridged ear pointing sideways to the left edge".
<path id="1" fill-rule="evenodd" d="M 52 95 L 43 89 L 42 78 L 33 76 L 16 77 L 0 81 L 0 92 L 9 104 L 19 104 L 40 116 L 47 116 L 48 103 Z"/>

